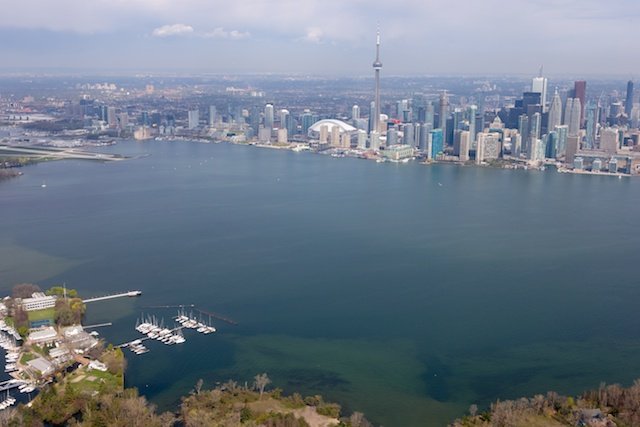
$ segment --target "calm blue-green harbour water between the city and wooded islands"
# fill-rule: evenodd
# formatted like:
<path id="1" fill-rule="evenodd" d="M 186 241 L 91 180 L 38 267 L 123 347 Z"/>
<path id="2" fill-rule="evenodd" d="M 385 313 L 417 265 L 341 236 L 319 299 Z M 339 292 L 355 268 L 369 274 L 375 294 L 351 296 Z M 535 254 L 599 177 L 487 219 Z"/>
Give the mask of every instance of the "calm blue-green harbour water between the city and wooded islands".
<path id="1" fill-rule="evenodd" d="M 267 372 L 385 426 L 471 403 L 640 377 L 640 181 L 376 164 L 184 142 L 65 161 L 0 183 L 0 287 L 66 282 L 88 322 L 133 339 L 149 306 L 236 320 L 151 344 L 127 384 L 175 408 Z M 46 188 L 41 184 L 46 182 Z"/>

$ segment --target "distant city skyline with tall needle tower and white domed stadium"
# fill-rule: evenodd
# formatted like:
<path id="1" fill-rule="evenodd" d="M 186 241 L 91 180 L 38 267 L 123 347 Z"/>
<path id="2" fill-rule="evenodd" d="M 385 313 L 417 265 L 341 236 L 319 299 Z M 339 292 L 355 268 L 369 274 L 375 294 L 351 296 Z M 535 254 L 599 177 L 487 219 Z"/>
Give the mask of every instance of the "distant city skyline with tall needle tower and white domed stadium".
<path id="1" fill-rule="evenodd" d="M 108 83 L 65 80 L 64 89 L 52 91 L 25 78 L 5 78 L 3 143 L 188 139 L 380 162 L 640 174 L 640 105 L 632 80 L 550 84 L 542 68 L 530 82 L 385 80 L 380 48 L 378 33 L 373 85 L 366 78 L 141 76 Z M 11 131 L 15 125 L 24 132 Z"/>

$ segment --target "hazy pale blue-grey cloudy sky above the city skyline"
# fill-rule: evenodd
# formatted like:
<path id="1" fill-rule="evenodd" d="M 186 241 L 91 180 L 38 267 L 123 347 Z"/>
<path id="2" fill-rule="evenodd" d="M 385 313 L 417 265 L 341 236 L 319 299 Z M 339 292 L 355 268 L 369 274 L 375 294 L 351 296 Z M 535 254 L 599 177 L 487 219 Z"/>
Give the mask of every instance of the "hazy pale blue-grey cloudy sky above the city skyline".
<path id="1" fill-rule="evenodd" d="M 0 70 L 365 76 L 640 70 L 639 0 L 0 0 Z"/>

